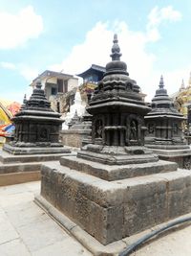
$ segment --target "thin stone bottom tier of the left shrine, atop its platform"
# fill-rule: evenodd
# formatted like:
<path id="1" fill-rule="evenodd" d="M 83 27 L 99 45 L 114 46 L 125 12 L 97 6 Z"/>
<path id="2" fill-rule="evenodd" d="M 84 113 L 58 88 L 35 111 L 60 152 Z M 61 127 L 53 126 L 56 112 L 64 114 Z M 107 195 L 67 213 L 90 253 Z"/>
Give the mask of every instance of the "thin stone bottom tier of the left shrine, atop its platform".
<path id="1" fill-rule="evenodd" d="M 3 146 L 4 151 L 8 151 L 11 154 L 43 154 L 43 153 L 70 153 L 69 149 L 64 147 L 15 147 L 10 144 Z"/>

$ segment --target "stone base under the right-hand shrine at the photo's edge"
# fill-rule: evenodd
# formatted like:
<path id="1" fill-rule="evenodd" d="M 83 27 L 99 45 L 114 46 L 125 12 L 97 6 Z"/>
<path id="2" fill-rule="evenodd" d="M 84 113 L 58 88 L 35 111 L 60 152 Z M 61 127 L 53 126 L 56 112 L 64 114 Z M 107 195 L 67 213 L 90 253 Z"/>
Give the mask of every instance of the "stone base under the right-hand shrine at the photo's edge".
<path id="1" fill-rule="evenodd" d="M 158 150 L 152 149 L 159 159 L 176 162 L 181 169 L 191 170 L 191 150 Z"/>

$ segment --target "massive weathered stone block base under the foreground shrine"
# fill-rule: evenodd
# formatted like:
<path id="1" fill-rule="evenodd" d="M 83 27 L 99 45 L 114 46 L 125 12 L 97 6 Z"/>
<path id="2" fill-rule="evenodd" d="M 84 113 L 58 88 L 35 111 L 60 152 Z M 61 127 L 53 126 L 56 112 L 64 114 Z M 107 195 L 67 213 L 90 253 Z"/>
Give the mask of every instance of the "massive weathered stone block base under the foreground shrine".
<path id="1" fill-rule="evenodd" d="M 50 162 L 41 174 L 41 196 L 104 245 L 191 212 L 189 171 L 108 181 Z"/>

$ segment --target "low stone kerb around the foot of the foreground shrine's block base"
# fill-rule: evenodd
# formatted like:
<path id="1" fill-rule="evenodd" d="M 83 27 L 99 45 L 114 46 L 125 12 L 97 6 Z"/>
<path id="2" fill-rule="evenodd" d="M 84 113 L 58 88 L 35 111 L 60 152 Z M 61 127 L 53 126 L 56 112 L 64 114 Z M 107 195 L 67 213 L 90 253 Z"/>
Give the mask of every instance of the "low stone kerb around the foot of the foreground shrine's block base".
<path id="1" fill-rule="evenodd" d="M 34 201 L 44 211 L 46 211 L 47 214 L 49 214 L 55 221 L 59 222 L 59 224 L 61 224 L 66 230 L 68 230 L 68 232 L 72 236 L 74 236 L 74 238 L 79 243 L 81 243 L 84 247 L 86 247 L 89 251 L 91 251 L 93 255 L 96 255 L 96 256 L 106 256 L 106 255 L 117 256 L 118 253 L 123 251 L 126 247 L 130 247 L 132 244 L 137 243 L 138 240 L 150 234 L 152 231 L 158 230 L 159 228 L 162 228 L 167 224 L 171 224 L 173 221 L 179 221 L 180 218 L 191 217 L 190 214 L 184 215 L 172 221 L 167 221 L 162 224 L 159 224 L 155 227 L 152 227 L 152 229 L 147 229 L 131 237 L 126 237 L 112 244 L 103 245 L 103 244 L 100 244 L 93 236 L 91 236 L 85 230 L 83 230 L 79 225 L 74 223 L 74 221 L 71 221 L 66 215 L 64 215 L 63 213 L 58 211 L 55 207 L 53 207 L 53 204 L 48 202 L 42 196 L 35 196 Z M 169 229 L 168 229 L 168 233 L 169 233 Z"/>

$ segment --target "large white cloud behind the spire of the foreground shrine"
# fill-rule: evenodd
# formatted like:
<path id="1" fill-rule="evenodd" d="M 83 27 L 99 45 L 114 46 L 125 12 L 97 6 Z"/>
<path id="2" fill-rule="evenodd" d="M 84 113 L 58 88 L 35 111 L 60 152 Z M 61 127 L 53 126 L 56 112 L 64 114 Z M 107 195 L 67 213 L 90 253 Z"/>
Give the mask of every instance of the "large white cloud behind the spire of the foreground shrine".
<path id="1" fill-rule="evenodd" d="M 121 49 L 122 57 L 127 63 L 127 71 L 132 79 L 138 81 L 138 85 L 143 93 L 148 95 L 150 101 L 158 88 L 160 71 L 155 69 L 155 60 L 158 58 L 155 54 L 146 50 L 148 43 L 154 43 L 159 40 L 159 25 L 163 21 L 180 20 L 181 14 L 172 7 L 154 8 L 148 15 L 148 24 L 145 32 L 131 31 L 125 22 L 115 21 L 96 23 L 96 26 L 87 33 L 84 42 L 75 45 L 68 58 L 62 63 L 54 64 L 50 69 L 55 71 L 63 70 L 64 73 L 78 74 L 88 69 L 93 63 L 105 66 L 110 61 L 112 40 L 115 33 L 118 35 L 118 44 Z M 189 72 L 189 67 L 184 71 Z M 165 72 L 164 81 L 167 89 L 173 88 L 173 91 L 179 89 L 182 75 L 185 72 L 174 71 Z M 175 73 L 177 72 L 177 75 Z M 169 93 L 172 90 L 169 90 Z"/>

